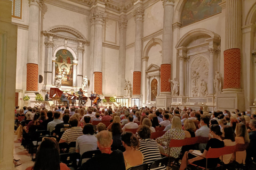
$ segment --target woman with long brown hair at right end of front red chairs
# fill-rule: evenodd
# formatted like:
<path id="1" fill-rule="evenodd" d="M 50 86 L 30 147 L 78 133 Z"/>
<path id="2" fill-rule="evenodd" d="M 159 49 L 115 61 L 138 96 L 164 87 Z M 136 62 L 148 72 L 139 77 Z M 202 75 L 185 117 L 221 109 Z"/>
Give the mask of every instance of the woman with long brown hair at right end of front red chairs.
<path id="1" fill-rule="evenodd" d="M 235 133 L 236 133 L 236 138 L 235 138 L 236 143 L 245 144 L 250 142 L 245 124 L 238 123 L 236 125 Z M 236 162 L 238 164 L 242 164 L 242 163 L 245 164 L 245 159 L 246 159 L 246 150 L 236 152 Z"/>

